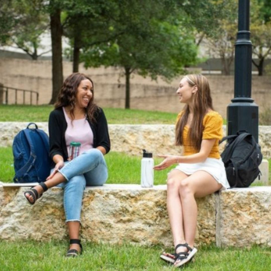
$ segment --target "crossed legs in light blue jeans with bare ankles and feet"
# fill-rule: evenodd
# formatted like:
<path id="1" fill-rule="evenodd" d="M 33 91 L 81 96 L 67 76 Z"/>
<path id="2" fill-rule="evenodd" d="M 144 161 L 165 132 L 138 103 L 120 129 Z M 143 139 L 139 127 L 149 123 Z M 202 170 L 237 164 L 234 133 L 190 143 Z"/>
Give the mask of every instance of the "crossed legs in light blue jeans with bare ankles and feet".
<path id="1" fill-rule="evenodd" d="M 66 162 L 60 172 L 57 172 L 44 184 L 47 188 L 59 185 L 64 189 L 64 209 L 69 237 L 70 240 L 79 239 L 83 191 L 86 185 L 99 186 L 106 182 L 107 166 L 101 151 L 91 149 L 71 162 Z M 43 193 L 43 188 L 40 185 L 35 186 L 34 189 L 38 195 Z M 36 201 L 28 192 L 25 192 L 25 197 L 30 203 Z M 70 244 L 70 249 L 80 252 L 80 245 Z"/>

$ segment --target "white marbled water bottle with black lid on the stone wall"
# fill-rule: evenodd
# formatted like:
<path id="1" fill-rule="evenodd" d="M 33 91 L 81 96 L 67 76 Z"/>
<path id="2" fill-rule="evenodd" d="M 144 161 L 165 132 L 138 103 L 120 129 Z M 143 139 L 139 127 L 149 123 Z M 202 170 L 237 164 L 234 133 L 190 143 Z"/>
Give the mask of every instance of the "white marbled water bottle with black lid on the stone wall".
<path id="1" fill-rule="evenodd" d="M 152 153 L 143 150 L 143 158 L 141 160 L 141 187 L 153 187 L 153 167 Z"/>

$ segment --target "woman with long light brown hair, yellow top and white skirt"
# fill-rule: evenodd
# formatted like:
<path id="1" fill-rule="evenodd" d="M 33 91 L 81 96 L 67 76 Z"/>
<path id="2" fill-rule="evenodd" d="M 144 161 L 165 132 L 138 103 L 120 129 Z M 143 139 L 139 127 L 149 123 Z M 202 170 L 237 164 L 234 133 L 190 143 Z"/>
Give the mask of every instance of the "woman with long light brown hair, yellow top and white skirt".
<path id="1" fill-rule="evenodd" d="M 197 205 L 195 198 L 229 188 L 225 167 L 219 153 L 223 119 L 212 105 L 210 87 L 203 75 L 186 75 L 177 90 L 185 104 L 177 117 L 175 141 L 183 146 L 180 156 L 159 155 L 164 160 L 154 166 L 163 170 L 177 164 L 167 177 L 167 210 L 175 253 L 160 257 L 175 267 L 189 263 L 194 247 Z"/>

